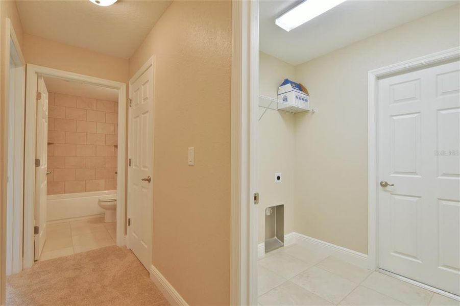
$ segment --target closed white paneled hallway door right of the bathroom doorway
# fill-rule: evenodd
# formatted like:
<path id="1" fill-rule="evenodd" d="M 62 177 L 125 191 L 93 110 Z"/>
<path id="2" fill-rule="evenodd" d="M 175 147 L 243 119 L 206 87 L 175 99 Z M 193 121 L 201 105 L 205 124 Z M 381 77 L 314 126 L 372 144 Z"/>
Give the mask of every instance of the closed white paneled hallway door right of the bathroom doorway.
<path id="1" fill-rule="evenodd" d="M 150 269 L 153 207 L 153 65 L 130 82 L 128 152 L 129 247 Z"/>

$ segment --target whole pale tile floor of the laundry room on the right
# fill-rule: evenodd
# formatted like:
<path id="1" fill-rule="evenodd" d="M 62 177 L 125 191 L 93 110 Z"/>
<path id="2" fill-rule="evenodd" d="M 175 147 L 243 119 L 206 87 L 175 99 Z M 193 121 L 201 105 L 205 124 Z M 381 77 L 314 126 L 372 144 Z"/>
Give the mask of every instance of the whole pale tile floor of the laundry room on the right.
<path id="1" fill-rule="evenodd" d="M 452 305 L 460 302 L 294 244 L 258 261 L 259 305 Z"/>

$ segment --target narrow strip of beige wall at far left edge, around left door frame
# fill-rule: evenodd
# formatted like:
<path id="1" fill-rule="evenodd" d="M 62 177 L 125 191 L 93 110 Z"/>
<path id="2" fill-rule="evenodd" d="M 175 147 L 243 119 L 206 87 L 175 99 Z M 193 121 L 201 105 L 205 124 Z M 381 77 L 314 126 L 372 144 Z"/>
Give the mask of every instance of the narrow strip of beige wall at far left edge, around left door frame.
<path id="1" fill-rule="evenodd" d="M 9 59 L 5 56 L 6 52 L 6 44 L 5 44 L 5 25 L 6 25 L 6 18 L 11 19 L 11 23 L 13 24 L 13 28 L 16 32 L 16 36 L 18 39 L 19 44 L 22 47 L 23 39 L 22 39 L 22 25 L 19 19 L 19 15 L 16 9 L 16 3 L 14 1 L 0 1 L 0 224 L 5 224 L 5 213 L 6 213 L 6 165 L 8 161 L 7 158 L 7 141 L 8 141 L 8 105 L 6 103 L 6 92 L 5 92 L 5 69 L 6 61 Z M 3 226 L 0 226 L 2 228 Z M 1 246 L 0 246 L 0 253 L 5 254 L 4 246 L 6 246 L 6 236 L 3 230 L 0 230 L 1 233 Z M 5 267 L 6 267 L 6 259 L 4 256 L 0 256 L 0 304 L 5 303 Z"/>

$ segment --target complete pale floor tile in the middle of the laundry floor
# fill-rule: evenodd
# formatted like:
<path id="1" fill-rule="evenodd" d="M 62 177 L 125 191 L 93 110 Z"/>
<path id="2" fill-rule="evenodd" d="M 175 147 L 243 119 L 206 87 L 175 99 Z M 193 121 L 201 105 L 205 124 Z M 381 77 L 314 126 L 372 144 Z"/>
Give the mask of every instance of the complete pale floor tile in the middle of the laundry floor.
<path id="1" fill-rule="evenodd" d="M 334 304 L 358 286 L 348 279 L 318 267 L 311 267 L 290 281 Z"/>

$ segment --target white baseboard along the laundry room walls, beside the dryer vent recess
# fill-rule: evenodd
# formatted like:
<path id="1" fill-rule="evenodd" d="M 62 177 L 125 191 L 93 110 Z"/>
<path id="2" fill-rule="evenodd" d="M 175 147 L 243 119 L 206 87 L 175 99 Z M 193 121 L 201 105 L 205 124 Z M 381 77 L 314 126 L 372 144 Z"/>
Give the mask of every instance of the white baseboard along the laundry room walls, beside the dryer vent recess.
<path id="1" fill-rule="evenodd" d="M 312 251 L 326 253 L 350 264 L 365 269 L 368 268 L 368 256 L 366 254 L 295 232 L 284 235 L 284 246 L 295 243 L 303 245 Z M 265 256 L 265 244 L 263 242 L 257 245 L 257 256 L 259 258 Z"/>

